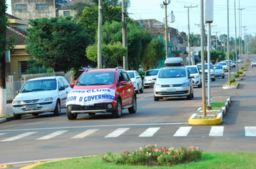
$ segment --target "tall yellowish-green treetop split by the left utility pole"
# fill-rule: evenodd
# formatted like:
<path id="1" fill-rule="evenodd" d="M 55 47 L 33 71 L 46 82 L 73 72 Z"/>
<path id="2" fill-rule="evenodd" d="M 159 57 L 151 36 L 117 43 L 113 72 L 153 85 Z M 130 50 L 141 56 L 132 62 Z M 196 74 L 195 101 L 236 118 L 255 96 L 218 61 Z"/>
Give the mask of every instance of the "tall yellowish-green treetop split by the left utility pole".
<path id="1" fill-rule="evenodd" d="M 109 6 L 106 2 L 102 3 L 102 25 L 106 21 L 111 23 L 112 21 L 122 21 L 122 6 Z M 85 32 L 91 35 L 91 37 L 96 38 L 96 32 L 98 30 L 98 17 L 99 16 L 99 6 L 93 3 L 93 6 L 88 7 L 83 10 L 83 14 L 79 21 L 83 23 Z M 96 38 L 97 39 L 97 38 Z"/>

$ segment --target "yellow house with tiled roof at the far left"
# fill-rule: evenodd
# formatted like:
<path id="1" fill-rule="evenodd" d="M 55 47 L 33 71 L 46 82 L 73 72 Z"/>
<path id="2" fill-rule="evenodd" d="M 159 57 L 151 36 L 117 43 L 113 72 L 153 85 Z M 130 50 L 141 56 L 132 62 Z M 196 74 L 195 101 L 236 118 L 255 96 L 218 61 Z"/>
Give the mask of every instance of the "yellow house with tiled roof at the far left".
<path id="1" fill-rule="evenodd" d="M 22 29 L 20 26 L 26 25 L 22 19 L 19 19 L 10 14 L 6 14 L 9 19 L 9 26 L 6 31 L 6 40 L 9 41 L 10 38 L 14 37 L 14 49 L 9 51 L 9 62 L 6 63 L 6 74 L 16 75 L 16 80 L 20 80 L 22 73 L 28 69 L 27 60 L 32 57 L 30 54 L 25 52 L 27 39 L 27 31 Z"/>

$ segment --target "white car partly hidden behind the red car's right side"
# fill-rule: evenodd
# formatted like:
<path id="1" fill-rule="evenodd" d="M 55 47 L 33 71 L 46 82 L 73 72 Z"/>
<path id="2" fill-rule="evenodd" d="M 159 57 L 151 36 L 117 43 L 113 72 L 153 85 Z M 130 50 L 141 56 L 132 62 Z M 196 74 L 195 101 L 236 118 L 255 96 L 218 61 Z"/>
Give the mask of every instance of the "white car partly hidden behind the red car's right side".
<path id="1" fill-rule="evenodd" d="M 138 72 L 136 70 L 129 70 L 127 73 L 129 74 L 129 78 L 132 80 L 134 90 L 137 94 L 143 92 L 142 77 L 140 77 Z"/>

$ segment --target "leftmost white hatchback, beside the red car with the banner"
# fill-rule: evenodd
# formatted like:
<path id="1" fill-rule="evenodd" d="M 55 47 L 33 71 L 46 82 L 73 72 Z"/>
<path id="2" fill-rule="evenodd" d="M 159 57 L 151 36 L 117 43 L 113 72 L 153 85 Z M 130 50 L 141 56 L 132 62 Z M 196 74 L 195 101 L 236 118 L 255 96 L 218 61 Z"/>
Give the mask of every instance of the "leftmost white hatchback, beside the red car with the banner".
<path id="1" fill-rule="evenodd" d="M 22 115 L 38 115 L 42 112 L 60 115 L 60 109 L 65 108 L 68 92 L 71 90 L 64 77 L 38 77 L 27 80 L 12 101 L 14 119 L 19 120 Z"/>

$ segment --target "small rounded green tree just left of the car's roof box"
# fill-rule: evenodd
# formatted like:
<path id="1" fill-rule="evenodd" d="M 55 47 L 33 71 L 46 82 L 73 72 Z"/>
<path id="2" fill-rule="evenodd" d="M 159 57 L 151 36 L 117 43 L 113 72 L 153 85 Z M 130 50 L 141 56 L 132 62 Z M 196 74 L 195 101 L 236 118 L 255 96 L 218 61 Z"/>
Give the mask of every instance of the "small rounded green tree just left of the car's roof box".
<path id="1" fill-rule="evenodd" d="M 165 57 L 165 45 L 160 39 L 154 38 L 147 44 L 145 56 L 142 59 L 143 69 L 153 69 L 159 65 L 160 59 Z"/>

